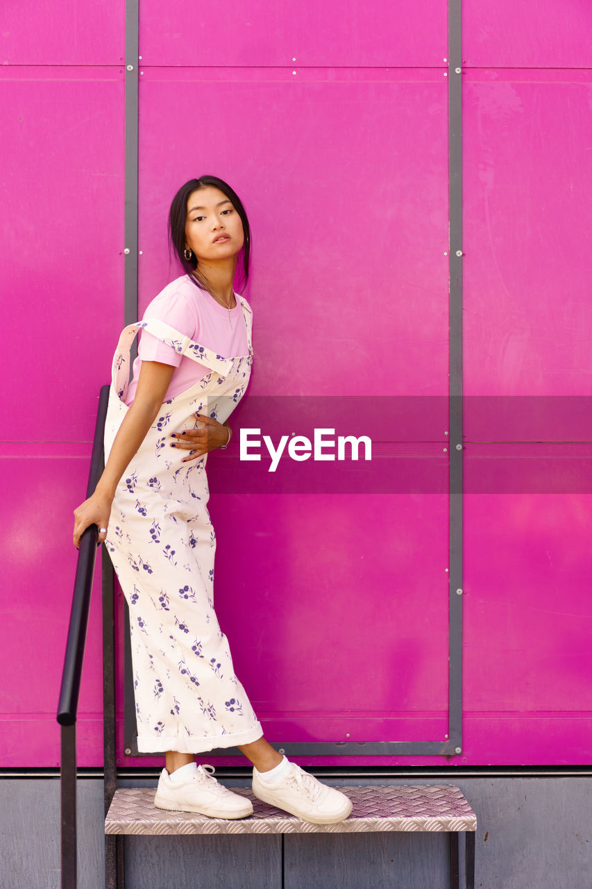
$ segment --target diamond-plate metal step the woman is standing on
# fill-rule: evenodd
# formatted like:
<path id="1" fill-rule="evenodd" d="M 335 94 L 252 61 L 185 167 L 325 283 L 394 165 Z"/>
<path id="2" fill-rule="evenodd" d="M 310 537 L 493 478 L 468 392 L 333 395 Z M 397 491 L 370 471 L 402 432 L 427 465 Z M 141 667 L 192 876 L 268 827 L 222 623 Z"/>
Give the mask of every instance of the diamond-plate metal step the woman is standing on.
<path id="1" fill-rule="evenodd" d="M 251 800 L 249 818 L 230 821 L 154 805 L 154 789 L 116 790 L 105 819 L 107 834 L 364 833 L 385 830 L 476 830 L 476 815 L 453 785 L 340 787 L 354 804 L 346 821 L 310 824 L 262 803 L 250 790 L 231 788 Z"/>

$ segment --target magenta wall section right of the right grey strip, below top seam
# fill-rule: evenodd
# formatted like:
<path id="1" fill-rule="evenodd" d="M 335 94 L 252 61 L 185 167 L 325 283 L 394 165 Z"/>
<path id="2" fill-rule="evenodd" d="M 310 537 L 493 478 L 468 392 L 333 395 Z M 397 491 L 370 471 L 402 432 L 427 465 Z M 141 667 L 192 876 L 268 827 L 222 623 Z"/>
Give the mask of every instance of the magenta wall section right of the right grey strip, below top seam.
<path id="1" fill-rule="evenodd" d="M 463 762 L 589 762 L 591 85 L 464 83 Z"/>

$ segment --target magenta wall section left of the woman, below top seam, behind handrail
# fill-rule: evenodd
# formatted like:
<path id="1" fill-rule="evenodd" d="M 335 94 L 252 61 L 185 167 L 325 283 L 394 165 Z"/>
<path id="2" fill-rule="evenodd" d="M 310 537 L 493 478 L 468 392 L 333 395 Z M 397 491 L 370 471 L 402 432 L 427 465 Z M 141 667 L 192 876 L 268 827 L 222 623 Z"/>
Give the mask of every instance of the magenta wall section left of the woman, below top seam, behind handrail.
<path id="1" fill-rule="evenodd" d="M 123 323 L 124 75 L 0 69 L 4 110 L 5 498 L 0 762 L 58 765 L 55 714 L 99 388 Z M 50 113 L 51 109 L 51 113 Z M 18 380 L 18 385 L 17 385 Z M 97 575 L 100 580 L 100 573 Z M 101 741 L 100 582 L 81 688 L 81 765 Z"/>

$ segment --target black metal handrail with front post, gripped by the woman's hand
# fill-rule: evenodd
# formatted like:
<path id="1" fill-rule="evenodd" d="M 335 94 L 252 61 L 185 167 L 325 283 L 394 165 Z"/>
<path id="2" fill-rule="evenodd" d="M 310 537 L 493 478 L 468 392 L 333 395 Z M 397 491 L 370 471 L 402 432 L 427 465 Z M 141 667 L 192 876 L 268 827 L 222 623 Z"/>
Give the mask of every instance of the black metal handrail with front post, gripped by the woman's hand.
<path id="1" fill-rule="evenodd" d="M 107 417 L 109 387 L 100 389 L 97 421 L 92 441 L 91 468 L 86 496 L 90 497 L 103 469 L 103 434 Z M 68 640 L 61 676 L 57 719 L 61 725 L 61 887 L 76 889 L 76 714 L 84 659 L 84 644 L 91 604 L 92 578 L 97 554 L 97 525 L 88 527 L 80 538 L 76 578 L 70 610 Z"/>

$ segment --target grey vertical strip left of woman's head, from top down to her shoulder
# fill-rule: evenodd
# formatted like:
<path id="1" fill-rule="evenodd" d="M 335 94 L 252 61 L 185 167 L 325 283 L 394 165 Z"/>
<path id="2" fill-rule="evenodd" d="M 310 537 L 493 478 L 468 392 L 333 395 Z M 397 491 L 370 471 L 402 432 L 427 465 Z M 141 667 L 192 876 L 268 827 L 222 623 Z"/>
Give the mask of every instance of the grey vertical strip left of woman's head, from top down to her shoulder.
<path id="1" fill-rule="evenodd" d="M 125 2 L 125 324 L 138 320 L 138 2 Z"/>

